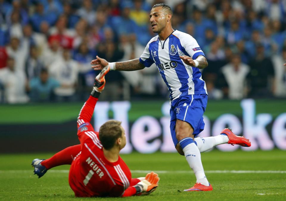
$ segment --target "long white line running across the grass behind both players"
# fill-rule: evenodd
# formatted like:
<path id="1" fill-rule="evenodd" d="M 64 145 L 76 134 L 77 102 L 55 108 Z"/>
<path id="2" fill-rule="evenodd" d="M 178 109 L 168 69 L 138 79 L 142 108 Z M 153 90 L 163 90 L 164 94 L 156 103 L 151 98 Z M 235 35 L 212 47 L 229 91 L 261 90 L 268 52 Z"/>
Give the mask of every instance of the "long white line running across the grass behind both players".
<path id="1" fill-rule="evenodd" d="M 156 172 L 158 174 L 187 174 L 193 173 L 193 171 L 168 171 L 168 170 L 131 170 L 132 173 L 149 173 L 149 172 Z M 32 173 L 33 169 L 31 170 L 0 170 L 0 173 Z M 69 170 L 49 170 L 52 173 L 69 173 Z M 286 171 L 280 170 L 206 170 L 205 173 L 207 174 L 224 174 L 224 173 L 233 173 L 233 174 L 246 174 L 246 173 L 255 173 L 255 174 L 286 174 Z"/>

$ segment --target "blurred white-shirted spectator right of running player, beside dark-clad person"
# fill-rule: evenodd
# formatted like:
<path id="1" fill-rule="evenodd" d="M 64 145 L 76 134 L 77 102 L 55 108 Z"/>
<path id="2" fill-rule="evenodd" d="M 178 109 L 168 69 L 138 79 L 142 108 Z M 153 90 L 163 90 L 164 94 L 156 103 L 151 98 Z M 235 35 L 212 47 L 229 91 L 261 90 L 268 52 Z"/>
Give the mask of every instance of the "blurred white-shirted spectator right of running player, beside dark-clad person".
<path id="1" fill-rule="evenodd" d="M 240 55 L 234 54 L 231 62 L 223 66 L 221 70 L 229 87 L 229 98 L 244 98 L 247 93 L 246 77 L 250 67 L 241 62 Z"/>

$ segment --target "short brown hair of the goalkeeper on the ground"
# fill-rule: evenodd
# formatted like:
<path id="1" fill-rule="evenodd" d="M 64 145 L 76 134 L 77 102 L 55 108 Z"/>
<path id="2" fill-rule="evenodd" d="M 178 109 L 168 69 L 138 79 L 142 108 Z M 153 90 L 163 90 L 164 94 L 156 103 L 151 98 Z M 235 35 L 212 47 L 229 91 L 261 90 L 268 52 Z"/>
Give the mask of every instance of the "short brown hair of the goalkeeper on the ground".
<path id="1" fill-rule="evenodd" d="M 99 139 L 106 150 L 114 147 L 115 141 L 122 137 L 121 121 L 109 120 L 99 129 Z"/>

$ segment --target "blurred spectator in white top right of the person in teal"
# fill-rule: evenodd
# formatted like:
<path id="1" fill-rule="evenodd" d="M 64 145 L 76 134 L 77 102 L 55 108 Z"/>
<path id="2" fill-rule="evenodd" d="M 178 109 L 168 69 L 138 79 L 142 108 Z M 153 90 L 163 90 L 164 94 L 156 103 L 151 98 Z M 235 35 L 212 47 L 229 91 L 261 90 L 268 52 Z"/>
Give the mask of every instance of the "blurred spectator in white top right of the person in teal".
<path id="1" fill-rule="evenodd" d="M 73 100 L 78 77 L 78 63 L 71 59 L 68 49 L 64 49 L 62 57 L 50 65 L 49 73 L 60 82 L 61 87 L 55 89 L 58 100 Z"/>

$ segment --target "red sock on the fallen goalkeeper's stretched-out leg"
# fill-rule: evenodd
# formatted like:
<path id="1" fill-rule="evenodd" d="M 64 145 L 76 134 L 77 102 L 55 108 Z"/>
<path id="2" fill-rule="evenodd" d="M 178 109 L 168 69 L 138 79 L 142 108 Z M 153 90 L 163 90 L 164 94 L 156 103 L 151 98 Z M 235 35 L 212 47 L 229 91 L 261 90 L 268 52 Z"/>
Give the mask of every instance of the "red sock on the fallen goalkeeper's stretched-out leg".
<path id="1" fill-rule="evenodd" d="M 51 158 L 44 160 L 41 165 L 45 166 L 46 169 L 51 169 L 60 165 L 70 165 L 73 158 L 81 151 L 80 145 L 74 145 L 67 147 L 64 150 L 56 153 Z"/>

